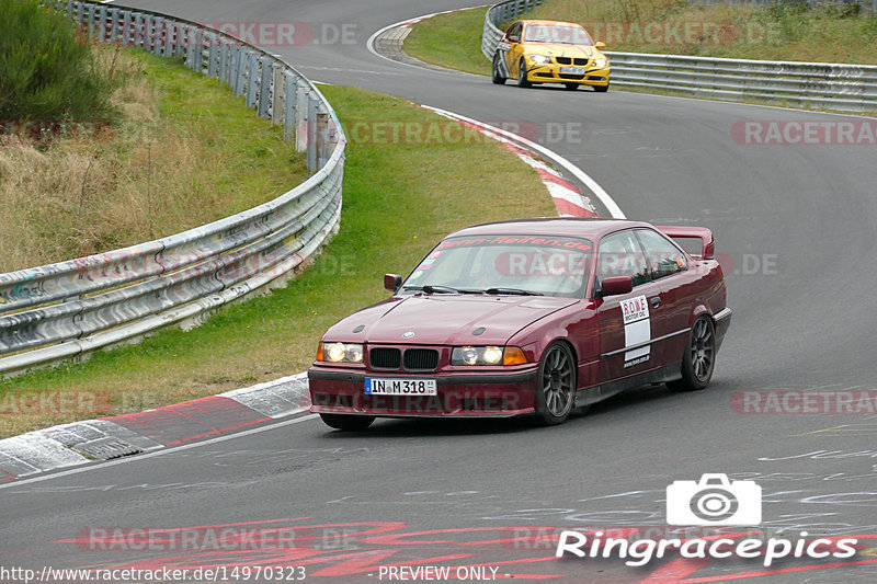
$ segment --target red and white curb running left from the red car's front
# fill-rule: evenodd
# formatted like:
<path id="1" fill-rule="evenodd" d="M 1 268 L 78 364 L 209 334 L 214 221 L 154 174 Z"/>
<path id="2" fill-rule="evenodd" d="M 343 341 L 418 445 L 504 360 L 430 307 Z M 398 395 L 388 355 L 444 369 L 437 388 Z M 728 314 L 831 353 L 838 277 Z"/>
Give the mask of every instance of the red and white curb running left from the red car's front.
<path id="1" fill-rule="evenodd" d="M 0 482 L 187 442 L 310 408 L 307 374 L 132 414 L 61 424 L 0 440 Z"/>

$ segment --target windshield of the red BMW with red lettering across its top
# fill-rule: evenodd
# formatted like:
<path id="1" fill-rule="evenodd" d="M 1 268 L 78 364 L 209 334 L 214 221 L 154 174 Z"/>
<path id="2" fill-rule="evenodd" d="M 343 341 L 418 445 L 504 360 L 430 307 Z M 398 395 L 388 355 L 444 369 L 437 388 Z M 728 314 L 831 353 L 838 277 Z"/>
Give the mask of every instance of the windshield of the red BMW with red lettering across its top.
<path id="1" fill-rule="evenodd" d="M 401 294 L 497 294 L 582 298 L 593 245 L 582 238 L 448 238 L 417 266 Z"/>

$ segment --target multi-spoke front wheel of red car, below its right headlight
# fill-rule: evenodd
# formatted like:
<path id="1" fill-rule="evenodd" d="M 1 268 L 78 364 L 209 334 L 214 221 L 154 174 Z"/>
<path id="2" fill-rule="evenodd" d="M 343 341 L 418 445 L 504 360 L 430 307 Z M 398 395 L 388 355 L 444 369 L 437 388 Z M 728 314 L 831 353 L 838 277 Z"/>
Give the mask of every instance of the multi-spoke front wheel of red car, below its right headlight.
<path id="1" fill-rule="evenodd" d="M 548 345 L 536 375 L 536 422 L 562 424 L 576 404 L 576 358 L 566 343 Z"/>

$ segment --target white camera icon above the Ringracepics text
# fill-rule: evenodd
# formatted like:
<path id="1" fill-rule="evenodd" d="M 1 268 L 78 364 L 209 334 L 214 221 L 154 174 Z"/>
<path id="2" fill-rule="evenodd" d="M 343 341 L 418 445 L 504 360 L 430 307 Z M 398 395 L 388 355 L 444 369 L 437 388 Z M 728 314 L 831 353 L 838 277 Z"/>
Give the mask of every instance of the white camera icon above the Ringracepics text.
<path id="1" fill-rule="evenodd" d="M 674 481 L 667 488 L 669 525 L 759 525 L 761 486 L 704 474 L 699 481 Z"/>

